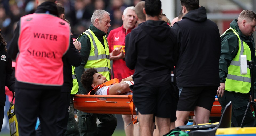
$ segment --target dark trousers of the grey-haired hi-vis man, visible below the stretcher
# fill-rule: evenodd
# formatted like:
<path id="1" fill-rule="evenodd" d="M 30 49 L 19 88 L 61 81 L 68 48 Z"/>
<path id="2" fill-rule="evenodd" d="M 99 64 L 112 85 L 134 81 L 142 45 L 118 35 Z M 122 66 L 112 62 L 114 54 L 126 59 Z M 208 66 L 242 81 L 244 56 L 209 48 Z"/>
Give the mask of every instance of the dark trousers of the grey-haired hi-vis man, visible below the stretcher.
<path id="1" fill-rule="evenodd" d="M 101 122 L 98 126 L 96 118 Z M 117 126 L 115 114 L 93 114 L 79 116 L 80 136 L 111 136 Z"/>

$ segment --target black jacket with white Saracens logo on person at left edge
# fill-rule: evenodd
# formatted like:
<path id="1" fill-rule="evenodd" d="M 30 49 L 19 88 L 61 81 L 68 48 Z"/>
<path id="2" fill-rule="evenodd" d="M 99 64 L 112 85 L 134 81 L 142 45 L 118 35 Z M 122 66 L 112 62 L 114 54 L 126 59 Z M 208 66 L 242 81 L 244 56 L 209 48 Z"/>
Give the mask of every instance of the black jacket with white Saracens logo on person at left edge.
<path id="1" fill-rule="evenodd" d="M 0 106 L 5 106 L 5 86 L 14 92 L 15 79 L 12 75 L 11 58 L 3 43 L 0 44 L 0 56 Z"/>

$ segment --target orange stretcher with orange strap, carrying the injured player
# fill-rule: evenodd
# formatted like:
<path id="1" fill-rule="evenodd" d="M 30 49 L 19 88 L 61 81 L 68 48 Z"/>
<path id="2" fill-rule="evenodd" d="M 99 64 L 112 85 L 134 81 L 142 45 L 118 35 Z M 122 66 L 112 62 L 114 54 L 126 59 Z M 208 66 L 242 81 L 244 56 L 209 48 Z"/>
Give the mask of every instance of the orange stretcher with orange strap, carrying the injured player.
<path id="1" fill-rule="evenodd" d="M 119 83 L 119 80 L 111 79 L 98 85 L 88 95 L 75 95 L 74 108 L 86 113 L 136 115 L 132 95 L 93 95 L 97 89 L 115 83 Z M 99 100 L 99 98 L 106 98 L 106 100 Z M 194 116 L 194 112 L 189 116 Z M 217 98 L 213 103 L 210 116 L 221 117 L 221 105 Z"/>

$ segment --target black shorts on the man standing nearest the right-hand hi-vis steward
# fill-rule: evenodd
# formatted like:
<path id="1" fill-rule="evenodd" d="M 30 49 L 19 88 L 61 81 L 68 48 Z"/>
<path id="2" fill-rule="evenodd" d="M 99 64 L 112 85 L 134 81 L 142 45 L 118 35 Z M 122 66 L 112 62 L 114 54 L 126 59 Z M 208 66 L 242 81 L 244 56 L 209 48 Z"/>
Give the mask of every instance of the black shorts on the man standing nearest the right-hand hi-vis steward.
<path id="1" fill-rule="evenodd" d="M 218 87 L 182 87 L 177 110 L 194 111 L 196 106 L 211 111 Z"/>

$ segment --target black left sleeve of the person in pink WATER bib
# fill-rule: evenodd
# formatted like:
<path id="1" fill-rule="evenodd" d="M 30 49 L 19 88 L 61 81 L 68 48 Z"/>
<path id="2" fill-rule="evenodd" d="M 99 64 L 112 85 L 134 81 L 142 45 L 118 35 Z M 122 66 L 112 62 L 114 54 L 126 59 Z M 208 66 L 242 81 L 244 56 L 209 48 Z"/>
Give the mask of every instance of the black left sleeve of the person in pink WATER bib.
<path id="1" fill-rule="evenodd" d="M 19 28 L 20 28 L 20 26 L 19 26 L 19 21 L 18 21 L 17 27 L 14 31 L 14 36 L 8 44 L 8 53 L 12 60 L 16 59 L 16 56 L 19 52 L 19 49 L 18 49 Z"/>

